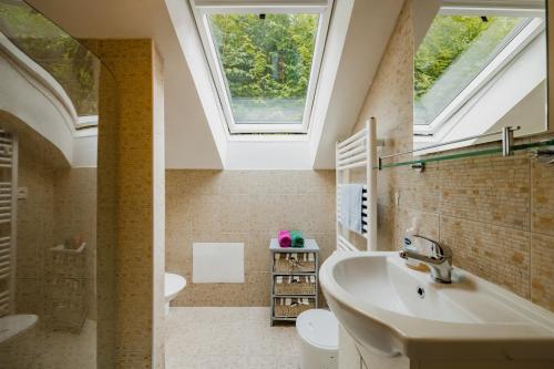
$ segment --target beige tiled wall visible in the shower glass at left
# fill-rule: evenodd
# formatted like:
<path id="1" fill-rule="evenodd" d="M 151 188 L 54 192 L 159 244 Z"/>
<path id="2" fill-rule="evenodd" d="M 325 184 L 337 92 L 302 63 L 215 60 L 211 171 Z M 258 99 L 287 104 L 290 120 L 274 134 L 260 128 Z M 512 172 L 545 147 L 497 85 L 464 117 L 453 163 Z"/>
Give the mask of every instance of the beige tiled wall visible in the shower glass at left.
<path id="1" fill-rule="evenodd" d="M 88 318 L 95 319 L 96 171 L 69 167 L 51 143 L 23 124 L 11 125 L 19 135 L 18 185 L 28 189 L 27 198 L 18 199 L 17 310 L 48 320 L 49 249 L 82 236 L 88 243 Z"/>

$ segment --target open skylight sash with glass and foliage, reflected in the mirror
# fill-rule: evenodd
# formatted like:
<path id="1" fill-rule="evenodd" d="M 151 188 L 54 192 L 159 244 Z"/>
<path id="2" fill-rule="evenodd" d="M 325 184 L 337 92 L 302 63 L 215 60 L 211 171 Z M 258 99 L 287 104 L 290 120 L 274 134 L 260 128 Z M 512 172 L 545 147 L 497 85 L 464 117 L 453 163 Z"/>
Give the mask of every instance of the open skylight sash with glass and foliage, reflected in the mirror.
<path id="1" fill-rule="evenodd" d="M 437 131 L 502 72 L 542 23 L 519 14 L 438 16 L 414 59 L 416 131 Z"/>

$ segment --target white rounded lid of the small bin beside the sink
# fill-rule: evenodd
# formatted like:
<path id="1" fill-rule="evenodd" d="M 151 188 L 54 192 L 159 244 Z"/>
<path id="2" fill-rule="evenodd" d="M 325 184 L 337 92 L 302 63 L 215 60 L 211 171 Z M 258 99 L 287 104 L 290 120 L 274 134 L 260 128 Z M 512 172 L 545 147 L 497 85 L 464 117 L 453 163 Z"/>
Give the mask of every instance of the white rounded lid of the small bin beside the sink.
<path id="1" fill-rule="evenodd" d="M 308 345 L 322 350 L 339 347 L 339 322 L 335 315 L 325 309 L 310 309 L 296 318 L 298 336 Z"/>

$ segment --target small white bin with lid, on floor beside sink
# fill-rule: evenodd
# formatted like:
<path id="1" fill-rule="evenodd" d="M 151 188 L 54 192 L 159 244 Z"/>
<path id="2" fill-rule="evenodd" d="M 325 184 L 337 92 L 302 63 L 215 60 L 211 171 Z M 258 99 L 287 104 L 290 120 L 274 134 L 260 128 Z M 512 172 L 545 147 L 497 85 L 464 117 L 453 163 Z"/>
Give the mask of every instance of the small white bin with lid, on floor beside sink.
<path id="1" fill-rule="evenodd" d="M 329 310 L 306 310 L 296 319 L 301 344 L 301 369 L 339 367 L 339 322 Z"/>

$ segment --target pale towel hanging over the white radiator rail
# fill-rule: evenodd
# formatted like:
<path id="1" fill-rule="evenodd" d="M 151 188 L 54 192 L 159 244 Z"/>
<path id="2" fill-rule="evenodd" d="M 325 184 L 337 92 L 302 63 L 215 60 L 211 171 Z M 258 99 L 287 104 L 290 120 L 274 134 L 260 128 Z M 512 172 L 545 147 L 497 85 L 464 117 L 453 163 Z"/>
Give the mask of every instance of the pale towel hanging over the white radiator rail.
<path id="1" fill-rule="evenodd" d="M 363 185 L 359 183 L 340 185 L 340 224 L 361 235 L 361 204 Z M 293 239 L 294 243 L 294 239 Z"/>

